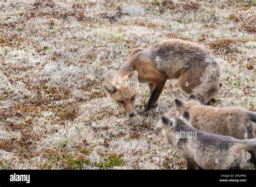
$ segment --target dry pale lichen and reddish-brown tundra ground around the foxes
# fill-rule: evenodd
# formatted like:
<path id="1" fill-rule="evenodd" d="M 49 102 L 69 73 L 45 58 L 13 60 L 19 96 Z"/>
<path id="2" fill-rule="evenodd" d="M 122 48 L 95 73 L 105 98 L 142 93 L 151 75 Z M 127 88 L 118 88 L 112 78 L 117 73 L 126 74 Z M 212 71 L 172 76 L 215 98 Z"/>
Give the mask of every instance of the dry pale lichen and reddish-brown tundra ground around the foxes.
<path id="1" fill-rule="evenodd" d="M 173 99 L 186 97 L 176 81 L 148 114 L 141 85 L 134 118 L 101 87 L 133 48 L 168 38 L 217 55 L 218 106 L 256 110 L 251 2 L 10 0 L 0 7 L 0 129 L 21 133 L 0 141 L 2 169 L 185 169 L 156 127 Z"/>

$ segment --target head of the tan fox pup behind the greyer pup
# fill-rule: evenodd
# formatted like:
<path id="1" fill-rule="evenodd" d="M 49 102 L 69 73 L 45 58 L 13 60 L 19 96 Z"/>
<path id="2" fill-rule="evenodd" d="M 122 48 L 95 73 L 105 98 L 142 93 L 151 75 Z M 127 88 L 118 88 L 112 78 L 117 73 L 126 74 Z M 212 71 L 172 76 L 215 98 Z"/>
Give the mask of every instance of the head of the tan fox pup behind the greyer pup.
<path id="1" fill-rule="evenodd" d="M 184 112 L 188 111 L 191 106 L 194 105 L 200 105 L 200 102 L 197 100 L 197 98 L 194 95 L 190 95 L 187 101 L 182 102 L 179 99 L 174 99 L 174 103 L 176 106 L 176 110 L 178 111 L 178 116 L 183 114 Z"/>

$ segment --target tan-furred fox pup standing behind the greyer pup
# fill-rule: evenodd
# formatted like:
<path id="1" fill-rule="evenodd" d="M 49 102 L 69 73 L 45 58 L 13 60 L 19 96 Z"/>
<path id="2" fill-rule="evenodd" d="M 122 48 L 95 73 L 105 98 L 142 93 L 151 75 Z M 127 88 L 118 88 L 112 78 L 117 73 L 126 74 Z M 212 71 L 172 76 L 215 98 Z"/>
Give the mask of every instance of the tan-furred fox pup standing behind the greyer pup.
<path id="1" fill-rule="evenodd" d="M 198 130 L 228 135 L 237 139 L 254 138 L 256 112 L 247 111 L 242 107 L 201 105 L 194 95 L 191 95 L 187 101 L 175 99 L 174 102 L 176 109 L 172 108 L 165 115 L 168 118 L 175 116 L 176 113 L 180 116 L 187 111 L 190 113 L 192 126 Z M 251 162 L 256 168 L 256 150 L 248 151 L 251 154 Z"/>

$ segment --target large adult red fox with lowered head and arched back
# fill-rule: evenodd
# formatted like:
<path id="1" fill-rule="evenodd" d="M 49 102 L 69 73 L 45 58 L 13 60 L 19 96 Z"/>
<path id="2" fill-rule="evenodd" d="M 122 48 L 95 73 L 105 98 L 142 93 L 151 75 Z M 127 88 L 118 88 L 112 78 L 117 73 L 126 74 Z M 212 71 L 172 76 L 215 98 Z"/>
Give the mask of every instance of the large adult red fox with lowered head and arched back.
<path id="1" fill-rule="evenodd" d="M 144 110 L 147 111 L 157 106 L 168 79 L 178 79 L 181 89 L 193 93 L 202 104 L 210 102 L 221 86 L 220 67 L 211 57 L 211 51 L 192 42 L 170 39 L 147 49 L 135 49 L 113 81 L 104 82 L 103 88 L 133 117 L 136 90 L 127 86 L 129 82 L 149 85 L 150 98 Z"/>

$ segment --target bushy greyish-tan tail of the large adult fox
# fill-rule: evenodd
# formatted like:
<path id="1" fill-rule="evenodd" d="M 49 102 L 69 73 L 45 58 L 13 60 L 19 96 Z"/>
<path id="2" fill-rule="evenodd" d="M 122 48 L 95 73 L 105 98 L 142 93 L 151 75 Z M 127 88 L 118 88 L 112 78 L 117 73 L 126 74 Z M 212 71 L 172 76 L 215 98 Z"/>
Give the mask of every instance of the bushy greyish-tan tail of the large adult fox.
<path id="1" fill-rule="evenodd" d="M 192 93 L 197 97 L 201 104 L 206 105 L 217 93 L 221 87 L 220 67 L 217 62 L 208 64 L 200 78 L 201 84 L 194 88 Z"/>

